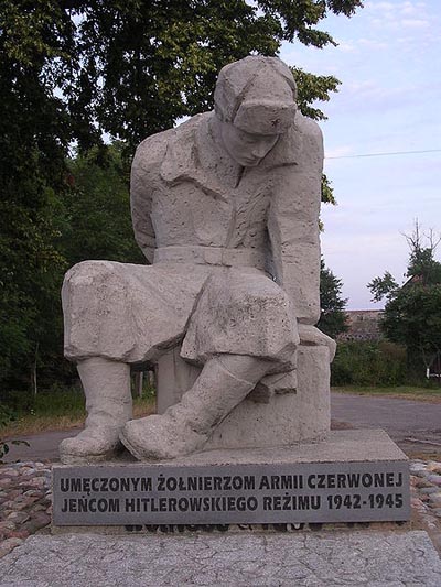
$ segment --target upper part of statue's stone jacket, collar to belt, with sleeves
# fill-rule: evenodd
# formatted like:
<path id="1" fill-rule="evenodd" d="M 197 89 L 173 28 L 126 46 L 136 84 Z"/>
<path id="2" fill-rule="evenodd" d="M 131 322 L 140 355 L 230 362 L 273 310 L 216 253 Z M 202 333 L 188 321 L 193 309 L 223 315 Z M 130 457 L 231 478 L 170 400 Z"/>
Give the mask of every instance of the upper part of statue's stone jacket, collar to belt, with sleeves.
<path id="1" fill-rule="evenodd" d="M 234 251 L 251 256 L 249 264 L 287 292 L 298 322 L 315 324 L 320 129 L 298 115 L 292 131 L 280 137 L 258 166 L 237 171 L 228 169 L 228 156 L 212 135 L 214 116 L 193 117 L 138 148 L 131 175 L 137 241 L 150 262 L 191 258 L 217 264 L 224 262 L 219 254 L 225 250 L 229 257 Z"/>

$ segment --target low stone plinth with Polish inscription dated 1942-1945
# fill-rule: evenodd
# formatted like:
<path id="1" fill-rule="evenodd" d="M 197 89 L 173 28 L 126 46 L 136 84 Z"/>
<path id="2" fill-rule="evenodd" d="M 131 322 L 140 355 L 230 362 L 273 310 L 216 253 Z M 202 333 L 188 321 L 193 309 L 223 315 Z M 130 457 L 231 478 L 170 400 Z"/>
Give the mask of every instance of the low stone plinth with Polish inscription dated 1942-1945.
<path id="1" fill-rule="evenodd" d="M 267 482 L 261 487 L 263 479 L 277 479 L 279 475 L 290 475 L 295 471 L 299 476 L 299 487 L 295 493 L 304 496 L 315 496 L 316 506 L 305 507 L 304 510 L 297 511 L 294 507 L 291 511 L 272 511 L 271 508 L 265 507 L 265 496 L 278 494 L 278 499 L 286 496 L 286 491 L 279 487 L 269 487 Z M 409 520 L 409 465 L 406 455 L 390 441 L 383 431 L 332 431 L 327 438 L 319 443 L 299 443 L 290 447 L 277 448 L 248 448 L 248 449 L 216 449 L 206 450 L 193 455 L 187 455 L 172 463 L 168 460 L 154 464 L 133 464 L 132 461 L 119 461 L 99 464 L 96 467 L 66 467 L 65 465 L 54 465 L 54 521 L 57 526 L 89 525 L 93 528 L 100 525 L 121 524 L 235 524 L 235 523 L 278 523 L 278 522 L 309 522 L 309 523 L 331 523 L 331 522 L 384 522 L 384 521 L 407 521 Z M 368 477 L 373 474 L 390 475 L 394 481 L 390 481 L 389 488 L 377 487 L 374 485 L 364 486 L 345 486 L 345 489 L 338 490 L 335 482 L 327 487 L 323 482 L 308 486 L 306 479 L 312 474 L 318 478 L 320 474 L 358 474 L 362 478 L 366 474 Z M 74 489 L 68 479 L 78 479 L 80 477 L 90 478 L 142 478 L 149 477 L 151 480 L 151 496 L 154 502 L 155 497 L 169 498 L 180 502 L 181 498 L 185 501 L 189 492 L 185 488 L 186 481 L 183 481 L 181 489 L 174 487 L 171 490 L 160 489 L 159 479 L 169 478 L 170 476 L 179 479 L 200 478 L 215 476 L 251 476 L 252 491 L 245 494 L 252 496 L 256 500 L 255 508 L 245 508 L 243 511 L 235 511 L 234 506 L 224 510 L 218 510 L 216 506 L 207 507 L 201 511 L 181 507 L 174 507 L 174 510 L 164 508 L 160 512 L 152 506 L 142 511 L 138 507 L 137 512 L 126 508 L 126 499 L 129 494 L 112 496 L 116 498 L 118 506 L 112 511 L 105 513 L 101 511 L 97 515 L 83 509 L 78 512 L 75 506 L 68 506 L 71 500 L 76 503 L 78 498 L 85 498 L 84 490 Z M 337 475 L 336 475 L 337 476 Z M 62 481 L 64 479 L 64 481 Z M 304 483 L 303 483 L 304 479 Z M 324 479 L 324 476 L 323 476 Z M 396 488 L 392 487 L 397 483 Z M 64 487 L 64 489 L 63 489 Z M 342 487 L 342 486 L 341 486 Z M 352 487 L 352 489 L 351 489 Z M 356 487 L 356 488 L 355 488 Z M 399 489 L 398 489 L 399 488 Z M 90 488 L 89 488 L 90 489 Z M 142 491 L 139 488 L 132 488 L 130 497 L 142 498 Z M 160 493 L 157 493 L 157 489 Z M 165 488 L 163 488 L 165 489 Z M 222 499 L 236 499 L 240 490 L 245 487 L 235 487 L 234 490 L 224 487 L 222 490 L 207 486 L 204 492 L 198 492 L 193 487 L 192 496 L 219 497 Z M 250 489 L 250 487 L 248 487 Z M 273 491 L 272 491 L 273 490 Z M 116 490 L 117 491 L 117 490 Z M 400 494 L 400 503 L 392 507 L 381 506 L 373 507 L 369 499 L 373 493 L 383 493 L 388 499 L 391 492 L 397 491 Z M 335 493 L 348 496 L 349 503 L 337 507 L 330 502 Z M 358 507 L 352 507 L 351 494 L 357 494 L 359 500 Z M 107 493 L 100 493 L 99 489 L 92 489 L 87 492 L 94 501 L 104 498 L 106 501 Z M 381 496 L 378 496 L 381 497 Z M 309 499 L 309 498 L 308 498 Z M 390 506 L 390 503 L 389 503 Z M 73 508 L 73 509 L 72 509 Z M 90 529 L 92 530 L 92 529 Z"/>

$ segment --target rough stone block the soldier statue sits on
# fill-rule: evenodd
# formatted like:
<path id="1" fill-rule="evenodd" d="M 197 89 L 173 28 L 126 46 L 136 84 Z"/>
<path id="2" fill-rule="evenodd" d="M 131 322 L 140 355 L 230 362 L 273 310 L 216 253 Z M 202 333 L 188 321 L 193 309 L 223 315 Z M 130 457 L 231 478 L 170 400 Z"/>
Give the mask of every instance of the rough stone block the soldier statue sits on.
<path id="1" fill-rule="evenodd" d="M 179 402 L 200 370 L 183 361 L 179 349 L 159 361 L 158 413 Z M 204 450 L 287 446 L 322 439 L 330 431 L 330 361 L 327 347 L 298 351 L 298 387 L 294 393 L 275 393 L 266 402 L 252 393 L 215 430 Z"/>

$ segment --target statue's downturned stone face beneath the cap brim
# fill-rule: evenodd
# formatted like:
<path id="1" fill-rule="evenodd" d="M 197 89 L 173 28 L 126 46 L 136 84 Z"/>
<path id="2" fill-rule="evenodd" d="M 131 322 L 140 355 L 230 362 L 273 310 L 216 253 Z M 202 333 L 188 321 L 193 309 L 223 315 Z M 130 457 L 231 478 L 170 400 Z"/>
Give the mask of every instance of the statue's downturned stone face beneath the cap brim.
<path id="1" fill-rule="evenodd" d="M 222 141 L 228 154 L 243 167 L 255 167 L 271 151 L 279 134 L 254 134 L 222 122 Z"/>

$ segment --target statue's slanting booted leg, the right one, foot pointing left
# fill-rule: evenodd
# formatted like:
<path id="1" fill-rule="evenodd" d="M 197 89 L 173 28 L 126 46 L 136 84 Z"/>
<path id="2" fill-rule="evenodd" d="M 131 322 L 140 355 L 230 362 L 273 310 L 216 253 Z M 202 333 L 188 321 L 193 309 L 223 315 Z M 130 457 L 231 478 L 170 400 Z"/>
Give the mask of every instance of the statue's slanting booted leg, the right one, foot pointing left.
<path id="1" fill-rule="evenodd" d="M 138 459 L 168 459 L 203 447 L 273 362 L 241 355 L 209 359 L 182 400 L 162 415 L 132 420 L 120 438 Z"/>

